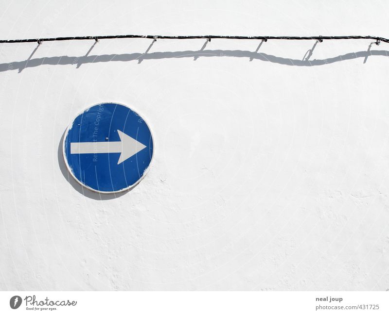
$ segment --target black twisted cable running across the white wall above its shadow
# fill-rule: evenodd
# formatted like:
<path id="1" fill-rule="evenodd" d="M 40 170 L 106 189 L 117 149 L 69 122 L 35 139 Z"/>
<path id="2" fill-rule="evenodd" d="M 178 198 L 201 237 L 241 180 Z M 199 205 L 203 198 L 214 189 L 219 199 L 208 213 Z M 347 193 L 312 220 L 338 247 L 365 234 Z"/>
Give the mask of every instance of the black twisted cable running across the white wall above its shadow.
<path id="1" fill-rule="evenodd" d="M 106 35 L 106 36 L 76 36 L 76 37 L 49 37 L 49 38 L 30 38 L 30 39 L 1 39 L 0 43 L 32 43 L 53 42 L 57 40 L 83 40 L 83 39 L 116 39 L 116 38 L 149 38 L 149 39 L 195 39 L 205 38 L 211 41 L 212 38 L 222 39 L 285 39 L 285 40 L 312 40 L 316 39 L 322 42 L 324 39 L 373 39 L 376 44 L 380 42 L 389 43 L 388 38 L 377 36 L 224 36 L 224 35 L 197 35 L 197 36 L 163 36 L 163 35 Z"/>

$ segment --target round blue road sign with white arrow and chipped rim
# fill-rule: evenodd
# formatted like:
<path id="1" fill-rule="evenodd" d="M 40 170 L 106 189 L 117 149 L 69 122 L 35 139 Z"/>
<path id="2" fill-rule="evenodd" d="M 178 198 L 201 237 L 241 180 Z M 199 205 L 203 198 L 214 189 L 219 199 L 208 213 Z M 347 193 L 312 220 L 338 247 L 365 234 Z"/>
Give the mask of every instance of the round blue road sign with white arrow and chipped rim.
<path id="1" fill-rule="evenodd" d="M 100 193 L 136 185 L 153 158 L 153 137 L 141 116 L 117 103 L 78 115 L 64 135 L 63 155 L 77 182 Z"/>

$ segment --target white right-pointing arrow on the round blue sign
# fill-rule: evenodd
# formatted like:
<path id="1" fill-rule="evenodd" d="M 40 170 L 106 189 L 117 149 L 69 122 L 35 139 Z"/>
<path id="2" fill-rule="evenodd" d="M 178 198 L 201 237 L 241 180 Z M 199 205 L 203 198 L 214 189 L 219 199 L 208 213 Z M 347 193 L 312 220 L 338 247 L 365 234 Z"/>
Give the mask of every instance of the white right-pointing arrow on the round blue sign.
<path id="1" fill-rule="evenodd" d="M 112 142 L 71 142 L 71 154 L 86 153 L 121 153 L 118 164 L 124 162 L 134 154 L 146 148 L 139 141 L 118 130 L 121 141 Z"/>

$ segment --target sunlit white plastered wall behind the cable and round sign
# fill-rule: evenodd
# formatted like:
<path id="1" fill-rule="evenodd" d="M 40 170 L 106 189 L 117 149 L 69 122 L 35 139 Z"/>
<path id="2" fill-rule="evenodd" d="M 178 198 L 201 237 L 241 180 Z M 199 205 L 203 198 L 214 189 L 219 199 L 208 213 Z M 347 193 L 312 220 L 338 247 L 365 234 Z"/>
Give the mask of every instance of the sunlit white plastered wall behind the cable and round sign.
<path id="1" fill-rule="evenodd" d="M 1 2 L 2 39 L 389 37 L 388 1 Z M 151 43 L 45 42 L 27 66 L 35 43 L 0 44 L 0 289 L 389 288 L 389 44 L 324 41 L 309 66 L 314 41 L 214 39 L 196 58 L 205 40 L 158 40 L 138 58 Z M 116 199 L 61 156 L 102 101 L 154 133 L 154 166 Z"/>

